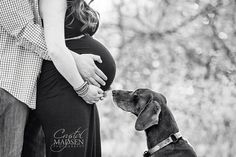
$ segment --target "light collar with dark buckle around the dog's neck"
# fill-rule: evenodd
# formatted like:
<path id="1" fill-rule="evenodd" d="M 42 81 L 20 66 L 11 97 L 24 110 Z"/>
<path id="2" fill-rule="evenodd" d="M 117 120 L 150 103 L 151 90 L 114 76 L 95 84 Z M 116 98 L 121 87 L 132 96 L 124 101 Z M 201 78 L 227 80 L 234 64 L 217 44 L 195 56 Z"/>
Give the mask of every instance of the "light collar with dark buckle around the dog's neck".
<path id="1" fill-rule="evenodd" d="M 148 151 L 145 151 L 144 154 L 143 154 L 143 157 L 150 157 L 150 156 L 152 156 L 152 154 L 154 154 L 158 150 L 162 149 L 163 147 L 165 147 L 165 146 L 167 146 L 167 145 L 169 145 L 171 143 L 177 142 L 181 137 L 182 137 L 182 135 L 181 135 L 180 132 L 177 132 L 175 134 L 171 134 L 164 141 L 158 143 L 156 146 L 154 146 L 153 148 L 149 149 Z"/>

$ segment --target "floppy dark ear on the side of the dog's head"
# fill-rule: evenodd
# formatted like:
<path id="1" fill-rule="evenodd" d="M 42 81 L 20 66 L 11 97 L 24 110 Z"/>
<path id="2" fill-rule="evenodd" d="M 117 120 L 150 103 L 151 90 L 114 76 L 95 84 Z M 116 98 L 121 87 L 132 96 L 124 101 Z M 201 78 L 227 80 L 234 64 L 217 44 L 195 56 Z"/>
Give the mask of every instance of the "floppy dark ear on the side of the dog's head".
<path id="1" fill-rule="evenodd" d="M 160 104 L 157 101 L 150 100 L 138 115 L 137 121 L 135 123 L 135 129 L 137 131 L 142 131 L 153 125 L 157 125 L 160 113 Z"/>

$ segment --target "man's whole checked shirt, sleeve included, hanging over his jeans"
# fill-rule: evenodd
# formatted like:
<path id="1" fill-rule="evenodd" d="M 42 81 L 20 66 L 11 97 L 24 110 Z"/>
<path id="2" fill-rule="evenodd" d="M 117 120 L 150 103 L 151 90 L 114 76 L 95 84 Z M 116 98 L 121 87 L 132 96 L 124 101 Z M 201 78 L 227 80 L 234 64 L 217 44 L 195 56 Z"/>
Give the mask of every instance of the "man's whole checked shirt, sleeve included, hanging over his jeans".
<path id="1" fill-rule="evenodd" d="M 0 87 L 34 109 L 43 59 L 38 0 L 0 0 Z"/>

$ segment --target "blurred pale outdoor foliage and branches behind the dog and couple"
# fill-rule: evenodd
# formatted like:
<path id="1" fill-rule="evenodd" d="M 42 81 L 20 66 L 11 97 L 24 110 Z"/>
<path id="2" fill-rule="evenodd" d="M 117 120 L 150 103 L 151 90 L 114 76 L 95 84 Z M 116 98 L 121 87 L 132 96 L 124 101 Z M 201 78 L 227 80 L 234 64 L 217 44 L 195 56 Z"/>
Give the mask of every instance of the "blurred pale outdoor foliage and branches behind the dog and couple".
<path id="1" fill-rule="evenodd" d="M 199 157 L 236 155 L 236 0 L 95 0 L 96 38 L 117 64 L 113 89 L 163 93 Z M 141 157 L 144 132 L 108 96 L 103 157 Z"/>

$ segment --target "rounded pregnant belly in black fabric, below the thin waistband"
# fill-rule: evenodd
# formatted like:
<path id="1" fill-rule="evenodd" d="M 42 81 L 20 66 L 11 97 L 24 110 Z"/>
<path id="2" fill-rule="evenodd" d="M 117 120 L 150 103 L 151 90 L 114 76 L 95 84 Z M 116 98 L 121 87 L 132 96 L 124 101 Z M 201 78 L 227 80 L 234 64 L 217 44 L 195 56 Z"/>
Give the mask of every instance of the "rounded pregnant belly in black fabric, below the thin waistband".
<path id="1" fill-rule="evenodd" d="M 95 63 L 108 78 L 106 85 L 101 88 L 103 90 L 108 90 L 116 73 L 115 61 L 110 52 L 100 42 L 90 36 L 84 36 L 81 39 L 67 41 L 66 45 L 70 50 L 78 54 L 94 54 L 101 57 L 102 63 Z"/>

